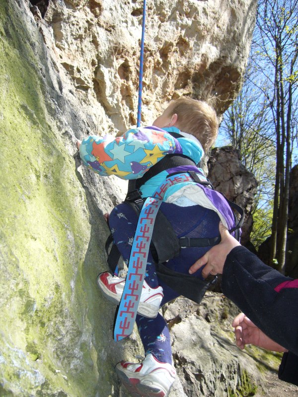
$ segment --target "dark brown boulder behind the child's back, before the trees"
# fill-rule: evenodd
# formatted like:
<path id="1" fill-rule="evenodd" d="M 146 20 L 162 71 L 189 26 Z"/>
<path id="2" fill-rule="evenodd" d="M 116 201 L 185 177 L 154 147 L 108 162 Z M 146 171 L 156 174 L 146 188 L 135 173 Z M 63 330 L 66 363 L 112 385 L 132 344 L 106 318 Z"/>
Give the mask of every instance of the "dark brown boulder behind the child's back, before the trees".
<path id="1" fill-rule="evenodd" d="M 252 206 L 258 182 L 240 163 L 237 151 L 225 146 L 211 151 L 208 160 L 208 178 L 215 190 L 244 209 L 245 217 L 240 242 L 247 244 L 252 230 Z"/>

